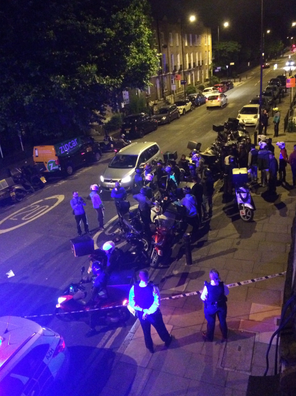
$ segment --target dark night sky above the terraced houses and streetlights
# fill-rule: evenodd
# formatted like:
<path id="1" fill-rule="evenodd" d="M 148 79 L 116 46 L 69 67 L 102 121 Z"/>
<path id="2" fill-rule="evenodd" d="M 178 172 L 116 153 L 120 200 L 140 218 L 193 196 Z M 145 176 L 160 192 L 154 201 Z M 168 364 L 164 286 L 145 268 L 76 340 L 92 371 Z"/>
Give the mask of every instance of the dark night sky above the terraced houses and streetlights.
<path id="1" fill-rule="evenodd" d="M 175 16 L 182 12 L 183 18 L 194 13 L 212 29 L 216 41 L 218 23 L 229 21 L 230 28 L 220 29 L 220 40 L 236 40 L 242 45 L 256 46 L 260 42 L 261 0 L 149 0 L 159 15 Z M 287 36 L 296 37 L 295 0 L 264 0 L 264 30 L 270 29 L 274 38 L 288 44 Z"/>

